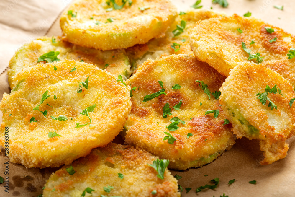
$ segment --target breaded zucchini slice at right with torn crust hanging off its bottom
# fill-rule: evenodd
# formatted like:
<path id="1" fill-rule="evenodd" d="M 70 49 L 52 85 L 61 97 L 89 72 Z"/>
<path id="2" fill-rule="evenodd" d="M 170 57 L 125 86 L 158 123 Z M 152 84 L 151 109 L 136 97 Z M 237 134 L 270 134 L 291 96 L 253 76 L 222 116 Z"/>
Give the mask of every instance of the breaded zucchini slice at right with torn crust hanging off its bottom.
<path id="1" fill-rule="evenodd" d="M 270 93 L 274 87 L 276 94 Z M 245 62 L 232 69 L 220 91 L 220 103 L 237 138 L 260 140 L 265 157 L 260 163 L 271 164 L 286 157 L 285 140 L 295 133 L 295 108 L 290 107 L 295 98 L 292 85 L 263 64 Z M 259 96 L 264 100 L 267 96 L 265 105 Z"/>

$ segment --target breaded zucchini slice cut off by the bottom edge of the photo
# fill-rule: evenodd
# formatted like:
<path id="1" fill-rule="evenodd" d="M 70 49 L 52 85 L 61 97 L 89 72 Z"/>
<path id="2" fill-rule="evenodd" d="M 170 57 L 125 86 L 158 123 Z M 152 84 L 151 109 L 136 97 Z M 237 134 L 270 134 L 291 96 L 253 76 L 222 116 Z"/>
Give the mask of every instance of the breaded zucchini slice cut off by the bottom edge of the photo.
<path id="1" fill-rule="evenodd" d="M 73 170 L 70 171 L 71 166 L 67 165 L 52 174 L 45 184 L 43 196 L 80 197 L 86 188 L 91 188 L 91 196 L 98 197 L 180 197 L 177 180 L 170 171 L 163 169 L 162 180 L 148 165 L 157 159 L 140 148 L 110 143 L 73 162 Z M 152 195 L 154 190 L 156 194 Z M 86 192 L 86 196 L 89 195 Z"/>

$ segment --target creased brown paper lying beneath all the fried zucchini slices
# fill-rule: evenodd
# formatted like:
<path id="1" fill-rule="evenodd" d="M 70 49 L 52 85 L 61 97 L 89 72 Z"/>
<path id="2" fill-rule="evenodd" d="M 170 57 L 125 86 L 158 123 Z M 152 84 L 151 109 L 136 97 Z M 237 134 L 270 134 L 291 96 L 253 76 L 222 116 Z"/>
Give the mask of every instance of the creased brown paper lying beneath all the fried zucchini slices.
<path id="1" fill-rule="evenodd" d="M 185 11 L 196 0 L 172 0 L 177 5 L 178 11 Z M 226 14 L 237 13 L 240 15 L 252 12 L 252 16 L 285 29 L 287 32 L 295 32 L 294 9 L 295 1 L 289 0 L 227 0 L 228 8 L 212 5 L 211 0 L 203 0 L 204 8 L 212 7 L 214 10 Z M 12 10 L 4 17 L 2 11 L 7 6 L 14 4 Z M 22 43 L 32 40 L 33 37 L 44 35 L 51 23 L 58 16 L 68 0 L 0 0 L 0 71 L 8 66 L 9 59 L 14 51 Z M 284 6 L 284 10 L 273 8 L 274 5 Z M 281 18 L 281 19 L 279 19 Z M 48 23 L 46 22 L 48 21 Z M 46 22 L 46 24 L 45 24 Z M 44 25 L 43 25 L 44 24 Z M 37 31 L 39 27 L 42 30 Z M 35 31 L 34 31 L 35 30 Z M 47 35 L 61 35 L 59 21 L 57 20 Z M 30 37 L 33 36 L 33 37 Z M 295 47 L 295 46 L 294 46 Z M 0 75 L 0 99 L 4 92 L 9 92 L 7 73 Z M 1 115 L 1 113 L 0 113 Z M 1 121 L 1 120 L 0 120 Z M 183 178 L 178 180 L 184 188 L 192 188 L 182 196 L 220 196 L 223 193 L 230 197 L 267 196 L 267 197 L 291 197 L 295 196 L 295 137 L 287 140 L 289 143 L 288 155 L 285 159 L 274 162 L 271 165 L 260 165 L 263 159 L 259 150 L 259 142 L 256 140 L 237 139 L 232 149 L 226 151 L 213 163 L 201 168 L 185 171 L 171 170 L 173 175 Z M 0 176 L 4 175 L 4 152 L 0 153 Z M 4 192 L 4 184 L 0 185 L 0 196 L 38 196 L 42 193 L 42 187 L 52 172 L 59 168 L 30 168 L 14 163 L 9 163 L 9 193 Z M 208 176 L 204 176 L 208 175 Z M 219 185 L 214 190 L 204 190 L 196 194 L 196 188 L 201 185 L 211 184 L 210 180 L 218 177 Z M 235 179 L 235 183 L 228 185 L 229 180 Z M 248 182 L 256 180 L 257 184 Z"/>

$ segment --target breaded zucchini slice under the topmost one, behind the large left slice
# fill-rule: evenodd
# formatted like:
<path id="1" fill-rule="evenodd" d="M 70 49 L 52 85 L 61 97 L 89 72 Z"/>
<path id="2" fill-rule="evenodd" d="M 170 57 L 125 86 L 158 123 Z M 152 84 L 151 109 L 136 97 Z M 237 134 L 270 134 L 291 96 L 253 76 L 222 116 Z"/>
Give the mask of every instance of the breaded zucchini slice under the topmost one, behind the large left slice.
<path id="1" fill-rule="evenodd" d="M 60 39 L 60 37 L 40 37 L 25 44 L 17 50 L 9 63 L 8 82 L 10 88 L 14 87 L 13 77 L 32 66 L 38 64 L 38 58 L 50 51 L 60 52 L 57 56 L 60 60 L 73 59 L 96 65 L 100 69 L 118 76 L 119 74 L 127 79 L 130 72 L 130 62 L 124 50 L 99 51 L 73 45 Z M 45 63 L 43 61 L 42 63 Z"/>

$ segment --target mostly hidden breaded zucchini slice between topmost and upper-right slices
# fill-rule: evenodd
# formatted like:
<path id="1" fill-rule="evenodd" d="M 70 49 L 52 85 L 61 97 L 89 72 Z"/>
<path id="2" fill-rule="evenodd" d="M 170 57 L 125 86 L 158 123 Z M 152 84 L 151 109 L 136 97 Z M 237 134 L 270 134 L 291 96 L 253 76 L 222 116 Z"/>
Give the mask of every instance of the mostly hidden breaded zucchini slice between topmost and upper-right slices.
<path id="1" fill-rule="evenodd" d="M 185 14 L 178 14 L 174 23 L 167 30 L 166 35 L 163 38 L 154 38 L 146 44 L 127 48 L 126 52 L 127 56 L 130 58 L 132 69 L 136 70 L 149 58 L 157 59 L 172 54 L 193 54 L 189 44 L 189 36 L 194 29 L 196 22 L 223 15 L 224 14 L 205 9 L 189 9 Z M 174 36 L 173 31 L 179 29 L 177 25 L 181 26 L 184 24 L 181 24 L 181 21 L 185 22 L 183 32 Z M 173 43 L 175 44 L 173 45 Z"/>

